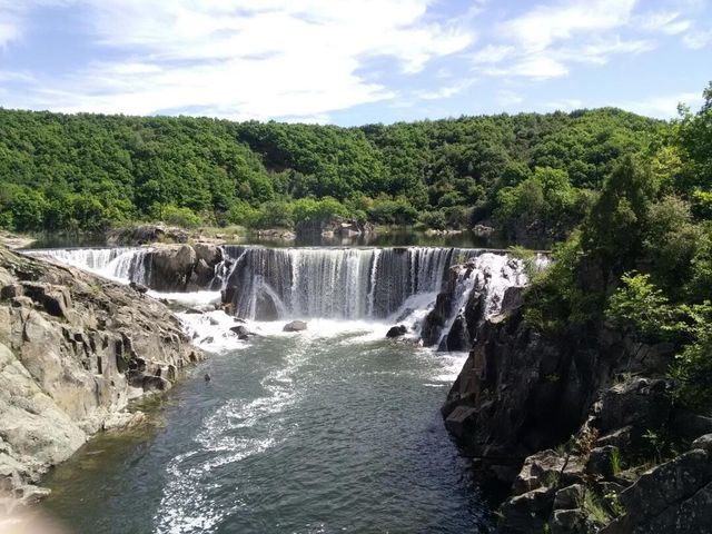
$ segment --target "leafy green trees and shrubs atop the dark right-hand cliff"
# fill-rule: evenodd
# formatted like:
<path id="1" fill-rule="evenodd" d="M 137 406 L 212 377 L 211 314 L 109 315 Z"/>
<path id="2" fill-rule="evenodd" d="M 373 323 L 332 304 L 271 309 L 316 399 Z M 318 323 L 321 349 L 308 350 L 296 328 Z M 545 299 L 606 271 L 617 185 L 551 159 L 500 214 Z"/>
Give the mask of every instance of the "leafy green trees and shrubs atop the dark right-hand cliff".
<path id="1" fill-rule="evenodd" d="M 557 335 L 609 325 L 673 343 L 680 402 L 712 408 L 712 85 L 696 112 L 616 160 L 581 231 L 528 290 L 527 319 Z M 566 188 L 557 187 L 558 191 Z"/>

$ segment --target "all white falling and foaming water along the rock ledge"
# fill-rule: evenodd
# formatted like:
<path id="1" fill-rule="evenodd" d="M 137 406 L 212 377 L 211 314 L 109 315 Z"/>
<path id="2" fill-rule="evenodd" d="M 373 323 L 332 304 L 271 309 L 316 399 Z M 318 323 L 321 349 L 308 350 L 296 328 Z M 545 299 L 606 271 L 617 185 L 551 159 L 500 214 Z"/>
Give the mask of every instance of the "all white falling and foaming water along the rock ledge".
<path id="1" fill-rule="evenodd" d="M 142 248 L 48 249 L 29 254 L 72 265 L 127 284 L 149 279 Z M 250 320 L 250 328 L 264 335 L 280 334 L 284 322 L 309 322 L 305 335 L 332 335 L 344 328 L 363 328 L 383 337 L 393 324 L 409 328 L 406 338 L 417 340 L 423 320 L 433 308 L 456 268 L 454 301 L 441 340 L 463 313 L 473 291 L 484 295 L 484 317 L 496 315 L 510 286 L 527 283 L 523 264 L 502 253 L 452 248 L 291 248 L 225 247 L 228 259 L 216 266 L 222 289 L 234 287 L 236 315 Z M 545 265 L 546 259 L 538 263 Z M 456 267 L 451 267 L 456 266 Z M 218 284 L 220 285 L 220 284 Z M 215 287 L 215 285 L 212 285 Z M 194 342 L 201 348 L 225 352 L 245 346 L 229 328 L 235 319 L 219 307 L 218 290 L 157 293 L 206 314 L 179 314 Z M 265 322 L 265 318 L 280 320 Z"/>

